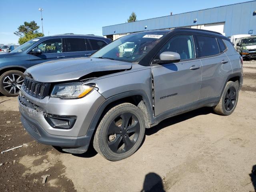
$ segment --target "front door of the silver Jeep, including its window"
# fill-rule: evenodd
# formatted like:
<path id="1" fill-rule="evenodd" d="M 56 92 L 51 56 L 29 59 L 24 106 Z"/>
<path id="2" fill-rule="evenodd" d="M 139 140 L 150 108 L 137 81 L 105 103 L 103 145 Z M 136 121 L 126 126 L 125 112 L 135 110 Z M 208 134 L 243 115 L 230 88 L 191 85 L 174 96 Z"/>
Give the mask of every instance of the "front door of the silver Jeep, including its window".
<path id="1" fill-rule="evenodd" d="M 155 116 L 196 102 L 200 92 L 202 65 L 196 58 L 193 36 L 175 36 L 160 50 L 156 59 L 166 51 L 179 53 L 181 60 L 152 66 Z"/>

